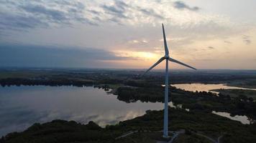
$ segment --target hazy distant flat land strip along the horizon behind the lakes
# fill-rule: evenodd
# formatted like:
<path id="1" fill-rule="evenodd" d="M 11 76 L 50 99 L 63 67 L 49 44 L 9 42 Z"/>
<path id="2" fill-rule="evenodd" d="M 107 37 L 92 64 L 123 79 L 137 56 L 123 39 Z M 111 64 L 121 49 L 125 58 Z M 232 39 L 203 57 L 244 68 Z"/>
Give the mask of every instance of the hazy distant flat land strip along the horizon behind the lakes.
<path id="1" fill-rule="evenodd" d="M 144 71 L 121 69 L 0 69 L 0 84 L 78 87 L 87 84 L 132 84 L 134 87 L 163 84 L 163 71 L 150 72 L 145 77 L 141 76 L 143 73 Z M 256 87 L 256 71 L 253 70 L 172 70 L 170 79 L 171 84 L 227 83 L 237 87 Z M 61 84 L 61 81 L 65 84 Z"/>

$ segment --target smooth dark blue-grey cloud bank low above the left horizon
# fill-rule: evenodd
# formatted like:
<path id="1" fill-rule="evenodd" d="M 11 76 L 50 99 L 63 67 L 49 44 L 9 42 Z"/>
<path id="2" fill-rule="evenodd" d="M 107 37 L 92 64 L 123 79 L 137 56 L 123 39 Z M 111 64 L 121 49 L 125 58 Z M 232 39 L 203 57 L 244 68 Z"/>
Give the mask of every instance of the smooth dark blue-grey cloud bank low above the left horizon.
<path id="1" fill-rule="evenodd" d="M 0 66 L 40 66 L 40 67 L 90 67 L 99 66 L 102 61 L 132 59 L 127 56 L 116 56 L 103 49 L 78 49 L 65 47 L 35 45 L 1 45 Z"/>

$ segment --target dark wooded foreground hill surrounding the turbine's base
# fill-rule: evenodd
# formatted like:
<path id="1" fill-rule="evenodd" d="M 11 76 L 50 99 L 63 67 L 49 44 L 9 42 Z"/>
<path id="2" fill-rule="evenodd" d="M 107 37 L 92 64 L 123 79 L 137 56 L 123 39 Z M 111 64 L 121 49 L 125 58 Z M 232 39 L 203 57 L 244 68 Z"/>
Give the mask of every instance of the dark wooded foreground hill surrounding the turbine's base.
<path id="1" fill-rule="evenodd" d="M 170 108 L 169 122 L 170 131 L 186 129 L 174 142 L 211 142 L 206 137 L 216 142 L 218 138 L 220 142 L 256 142 L 256 124 L 244 125 L 211 113 Z M 79 124 L 54 120 L 45 124 L 36 123 L 24 132 L 6 135 L 0 142 L 157 142 L 162 139 L 161 129 L 163 110 L 148 111 L 142 117 L 106 128 L 94 122 Z M 119 138 L 127 132 L 134 133 Z"/>

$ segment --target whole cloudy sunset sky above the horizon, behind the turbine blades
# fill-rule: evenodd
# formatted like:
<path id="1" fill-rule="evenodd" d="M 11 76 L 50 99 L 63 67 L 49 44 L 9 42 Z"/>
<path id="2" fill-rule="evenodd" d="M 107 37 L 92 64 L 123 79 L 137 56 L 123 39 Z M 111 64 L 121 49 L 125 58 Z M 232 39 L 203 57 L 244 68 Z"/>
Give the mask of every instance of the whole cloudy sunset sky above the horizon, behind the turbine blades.
<path id="1" fill-rule="evenodd" d="M 0 67 L 146 69 L 164 55 L 163 23 L 178 61 L 197 69 L 256 69 L 255 6 L 255 0 L 0 0 Z"/>

